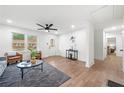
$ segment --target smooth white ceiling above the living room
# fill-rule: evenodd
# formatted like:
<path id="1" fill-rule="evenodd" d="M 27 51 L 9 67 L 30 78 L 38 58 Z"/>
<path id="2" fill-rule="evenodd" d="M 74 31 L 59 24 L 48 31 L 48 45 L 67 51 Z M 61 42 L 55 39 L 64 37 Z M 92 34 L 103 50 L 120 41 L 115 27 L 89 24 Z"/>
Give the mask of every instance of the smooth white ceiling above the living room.
<path id="1" fill-rule="evenodd" d="M 124 16 L 124 6 L 98 6 L 98 5 L 9 5 L 0 6 L 0 23 L 7 24 L 6 19 L 11 19 L 12 24 L 17 27 L 36 30 L 36 23 L 42 25 L 54 24 L 59 33 L 83 28 L 85 21 L 94 24 L 105 24 Z"/>

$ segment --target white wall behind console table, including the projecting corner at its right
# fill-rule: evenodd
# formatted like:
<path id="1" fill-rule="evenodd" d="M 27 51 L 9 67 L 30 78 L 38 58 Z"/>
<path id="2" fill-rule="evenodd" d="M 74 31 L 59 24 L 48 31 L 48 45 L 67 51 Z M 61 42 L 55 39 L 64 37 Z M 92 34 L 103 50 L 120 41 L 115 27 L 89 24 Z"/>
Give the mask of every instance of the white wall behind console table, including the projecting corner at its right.
<path id="1" fill-rule="evenodd" d="M 84 29 L 76 30 L 59 37 L 60 55 L 65 57 L 67 49 L 71 48 L 70 37 L 76 38 L 76 49 L 79 51 L 78 59 L 86 62 L 86 67 L 94 64 L 94 29 L 87 24 Z"/>

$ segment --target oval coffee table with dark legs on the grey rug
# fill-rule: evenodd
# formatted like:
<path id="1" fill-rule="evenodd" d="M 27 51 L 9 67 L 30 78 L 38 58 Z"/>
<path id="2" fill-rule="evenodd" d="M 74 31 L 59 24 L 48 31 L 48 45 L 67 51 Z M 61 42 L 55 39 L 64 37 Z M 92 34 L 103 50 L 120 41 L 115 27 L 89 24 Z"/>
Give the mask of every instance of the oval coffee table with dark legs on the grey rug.
<path id="1" fill-rule="evenodd" d="M 31 62 L 23 61 L 21 63 L 18 63 L 16 66 L 18 68 L 20 68 L 20 70 L 21 70 L 21 78 L 23 79 L 24 69 L 41 66 L 41 71 L 43 71 L 43 60 L 37 60 L 35 64 L 32 64 Z"/>

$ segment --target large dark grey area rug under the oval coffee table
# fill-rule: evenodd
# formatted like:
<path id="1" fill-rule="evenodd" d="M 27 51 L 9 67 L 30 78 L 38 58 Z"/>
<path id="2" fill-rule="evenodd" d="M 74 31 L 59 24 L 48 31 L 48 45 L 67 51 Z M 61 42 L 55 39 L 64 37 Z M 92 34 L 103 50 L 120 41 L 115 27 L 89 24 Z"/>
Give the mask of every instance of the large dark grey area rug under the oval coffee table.
<path id="1" fill-rule="evenodd" d="M 0 77 L 0 87 L 58 87 L 70 79 L 68 75 L 47 63 L 43 63 L 43 72 L 40 66 L 24 71 L 22 80 L 20 69 L 16 64 L 9 65 Z"/>

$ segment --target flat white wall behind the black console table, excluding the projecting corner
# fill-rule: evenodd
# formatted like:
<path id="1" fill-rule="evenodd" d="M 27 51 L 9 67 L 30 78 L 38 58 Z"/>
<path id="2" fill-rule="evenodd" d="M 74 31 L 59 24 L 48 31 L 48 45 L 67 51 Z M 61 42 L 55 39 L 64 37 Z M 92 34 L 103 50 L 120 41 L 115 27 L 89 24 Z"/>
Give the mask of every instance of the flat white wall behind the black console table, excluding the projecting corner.
<path id="1" fill-rule="evenodd" d="M 78 59 L 81 61 L 87 61 L 88 58 L 88 40 L 87 32 L 85 29 L 75 31 L 72 33 L 64 34 L 59 37 L 59 50 L 60 54 L 65 57 L 65 51 L 71 49 L 70 37 L 74 36 L 76 38 L 76 49 L 79 52 Z"/>

